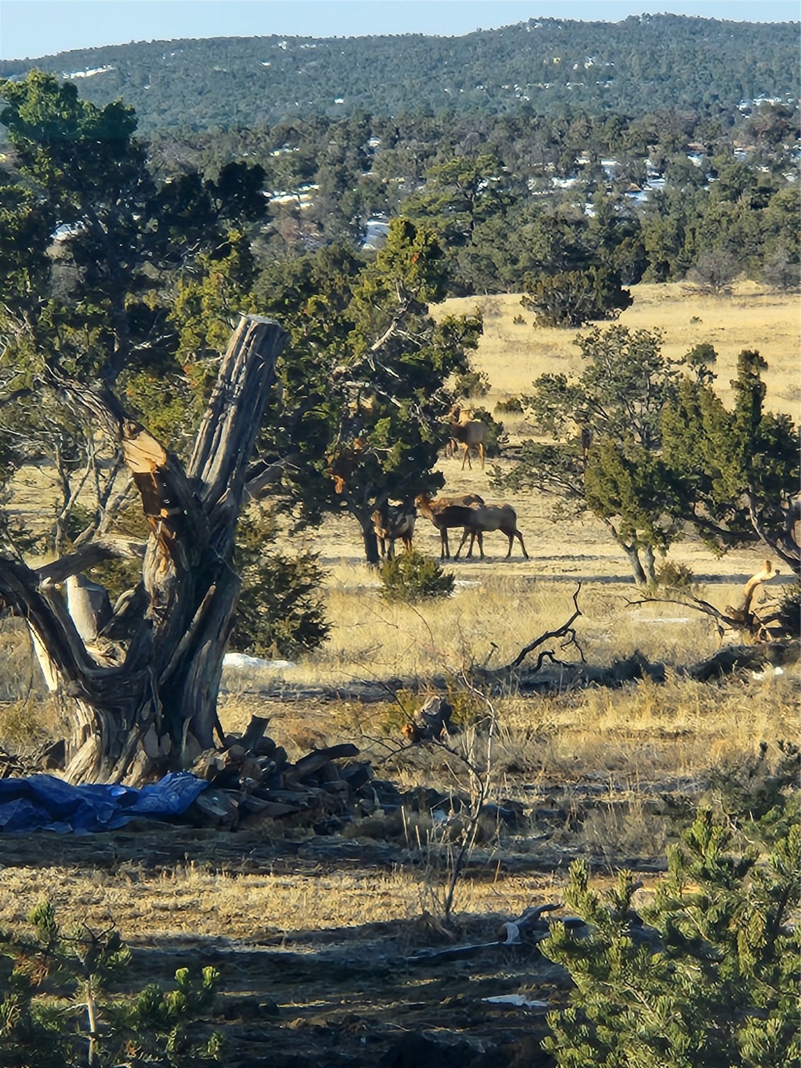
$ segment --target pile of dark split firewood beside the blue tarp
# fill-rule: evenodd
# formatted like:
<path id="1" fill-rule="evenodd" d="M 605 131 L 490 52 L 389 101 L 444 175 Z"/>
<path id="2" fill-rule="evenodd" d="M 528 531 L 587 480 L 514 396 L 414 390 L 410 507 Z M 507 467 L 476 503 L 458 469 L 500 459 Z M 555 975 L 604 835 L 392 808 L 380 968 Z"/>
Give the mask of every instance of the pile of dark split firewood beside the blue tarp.
<path id="1" fill-rule="evenodd" d="M 229 735 L 224 749 L 206 750 L 190 769 L 210 784 L 194 802 L 204 824 L 233 829 L 242 821 L 334 815 L 356 804 L 356 791 L 372 778 L 368 764 L 335 761 L 359 755 L 350 742 L 315 749 L 294 764 L 267 737 L 268 719 L 254 716 L 244 735 Z"/>

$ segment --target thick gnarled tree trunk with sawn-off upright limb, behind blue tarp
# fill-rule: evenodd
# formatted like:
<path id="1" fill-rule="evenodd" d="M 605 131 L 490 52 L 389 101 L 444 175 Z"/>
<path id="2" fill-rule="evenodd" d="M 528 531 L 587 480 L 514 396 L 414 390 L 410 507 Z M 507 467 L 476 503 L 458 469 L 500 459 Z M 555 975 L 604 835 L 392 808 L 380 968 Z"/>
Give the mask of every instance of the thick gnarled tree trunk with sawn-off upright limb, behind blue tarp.
<path id="1" fill-rule="evenodd" d="M 126 619 L 130 637 L 116 664 L 84 642 L 54 586 L 54 574 L 61 580 L 81 570 L 89 549 L 74 554 L 73 566 L 41 571 L 0 557 L 0 598 L 27 619 L 73 723 L 66 766 L 73 782 L 138 784 L 190 766 L 215 744 L 222 657 L 239 590 L 232 568 L 236 523 L 286 341 L 277 323 L 241 318 L 186 470 L 108 389 L 51 368 L 56 388 L 122 446 L 151 529 L 146 596 L 139 617 Z M 98 550 L 99 557 L 111 554 L 106 544 Z"/>

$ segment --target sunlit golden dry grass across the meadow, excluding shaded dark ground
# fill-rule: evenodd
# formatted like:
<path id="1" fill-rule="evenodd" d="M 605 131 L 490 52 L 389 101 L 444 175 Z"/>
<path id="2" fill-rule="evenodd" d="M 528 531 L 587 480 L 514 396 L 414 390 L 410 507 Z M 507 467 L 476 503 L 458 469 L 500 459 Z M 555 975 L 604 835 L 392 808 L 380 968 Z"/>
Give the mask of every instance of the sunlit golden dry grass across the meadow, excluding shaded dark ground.
<path id="1" fill-rule="evenodd" d="M 677 285 L 637 286 L 633 292 L 634 304 L 622 316 L 625 325 L 663 330 L 672 356 L 711 342 L 720 358 L 719 388 L 727 400 L 738 352 L 757 348 L 769 363 L 769 406 L 798 419 L 796 297 L 752 286 L 729 298 L 693 295 Z M 482 405 L 493 409 L 499 400 L 525 391 L 545 371 L 577 368 L 575 331 L 533 329 L 518 297 L 452 300 L 437 314 L 476 303 L 484 312 L 485 330 L 474 363 L 491 382 Z M 525 324 L 514 323 L 518 314 Z M 513 443 L 529 433 L 519 417 L 499 418 Z M 503 468 L 506 461 L 501 457 L 498 462 Z M 458 459 L 443 458 L 441 470 L 446 492 L 477 491 L 488 501 L 497 500 L 489 485 L 490 465 L 485 471 L 477 465 L 462 471 Z M 43 477 L 30 475 L 30 484 L 19 486 L 16 503 L 22 511 L 29 512 L 42 499 Z M 356 741 L 374 760 L 376 773 L 402 787 L 427 783 L 464 788 L 468 781 L 464 765 L 441 752 L 406 749 L 399 735 L 404 714 L 422 703 L 428 680 L 434 675 L 446 677 L 468 724 L 454 744 L 469 757 L 486 757 L 481 729 L 470 724 L 481 725 L 489 711 L 494 714 L 490 758 L 494 796 L 516 797 L 532 805 L 566 791 L 568 803 L 579 807 L 582 799 L 593 798 L 591 811 L 551 836 L 552 871 L 464 879 L 459 909 L 505 915 L 519 912 L 538 893 L 554 892 L 554 884 L 564 879 L 559 849 L 585 852 L 608 870 L 632 855 L 660 857 L 666 823 L 654 814 L 649 799 L 665 790 L 703 792 L 712 769 L 742 765 L 761 741 L 773 753 L 779 739 L 798 734 L 799 692 L 795 669 L 775 677 L 756 679 L 749 673 L 707 685 L 680 677 L 678 668 L 718 648 L 720 639 L 710 621 L 677 604 L 629 604 L 635 591 L 626 560 L 592 517 L 559 519 L 552 502 L 535 493 L 508 500 L 517 509 L 531 559 L 522 560 L 516 546 L 512 560 L 505 561 L 505 538 L 489 534 L 487 561 L 452 564 L 454 596 L 428 604 L 381 600 L 378 580 L 362 561 L 360 532 L 352 521 L 329 518 L 319 530 L 307 532 L 301 540 L 320 554 L 327 570 L 330 640 L 281 671 L 255 677 L 226 672 L 220 708 L 227 731 L 242 729 L 253 712 L 270 716 L 269 733 L 290 758 L 311 747 Z M 439 537 L 426 520 L 418 521 L 415 545 L 438 555 Z M 299 547 L 297 537 L 290 547 Z M 672 556 L 692 569 L 701 595 L 721 608 L 733 602 L 761 559 L 753 551 L 717 559 L 692 538 L 679 543 Z M 764 596 L 780 593 L 786 578 L 780 576 Z M 509 690 L 491 698 L 491 707 L 481 694 L 466 693 L 465 679 L 473 665 L 508 662 L 527 642 L 564 623 L 579 583 L 582 615 L 576 630 L 587 662 L 609 664 L 637 649 L 668 665 L 664 685 L 644 681 L 622 690 L 587 689 L 547 697 Z M 0 684 L 0 744 L 23 750 L 58 734 L 59 712 L 43 693 L 19 626 L 6 619 L 0 644 L 6 668 Z M 575 650 L 561 651 L 556 646 L 554 653 L 576 659 Z M 388 688 L 386 700 L 377 702 L 347 695 L 337 701 L 319 692 L 323 687 L 345 692 L 357 682 L 393 678 L 406 680 L 407 689 L 395 695 Z M 375 827 L 357 824 L 354 834 L 362 832 L 364 837 L 377 833 Z M 277 826 L 266 833 L 280 838 L 288 832 Z M 408 828 L 404 833 L 408 835 Z M 504 850 L 531 858 L 537 848 L 532 842 L 521 834 Z M 540 861 L 539 867 L 547 869 L 550 861 Z M 403 869 L 360 873 L 348 877 L 347 884 L 342 873 L 310 884 L 298 873 L 226 875 L 203 863 L 154 873 L 131 862 L 113 878 L 65 874 L 57 867 L 40 871 L 36 879 L 25 867 L 5 875 L 12 892 L 0 902 L 0 923 L 19 920 L 47 893 L 87 922 L 113 917 L 125 937 L 139 939 L 210 933 L 221 921 L 234 938 L 248 931 L 288 938 L 300 928 L 389 922 L 420 914 L 426 891 L 424 875 Z"/>

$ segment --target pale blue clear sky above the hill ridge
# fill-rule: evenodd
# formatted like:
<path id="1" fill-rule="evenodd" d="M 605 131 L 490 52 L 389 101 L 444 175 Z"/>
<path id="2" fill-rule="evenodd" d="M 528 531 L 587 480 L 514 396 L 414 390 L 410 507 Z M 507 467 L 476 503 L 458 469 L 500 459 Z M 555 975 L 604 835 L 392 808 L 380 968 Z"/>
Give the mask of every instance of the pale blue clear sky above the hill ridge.
<path id="1" fill-rule="evenodd" d="M 799 0 L 0 0 L 0 59 L 176 37 L 460 35 L 527 18 L 627 15 L 796 21 Z"/>

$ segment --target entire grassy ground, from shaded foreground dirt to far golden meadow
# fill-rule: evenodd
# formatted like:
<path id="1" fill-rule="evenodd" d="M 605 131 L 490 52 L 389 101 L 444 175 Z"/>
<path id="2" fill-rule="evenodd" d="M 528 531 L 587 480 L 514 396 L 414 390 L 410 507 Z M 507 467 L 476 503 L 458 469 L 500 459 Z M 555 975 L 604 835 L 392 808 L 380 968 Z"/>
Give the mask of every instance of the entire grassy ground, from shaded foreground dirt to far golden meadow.
<path id="1" fill-rule="evenodd" d="M 713 299 L 679 286 L 638 286 L 634 297 L 623 323 L 659 327 L 671 355 L 714 344 L 726 399 L 737 354 L 758 348 L 770 364 L 769 406 L 798 420 L 795 298 L 749 288 Z M 524 392 L 541 372 L 577 368 L 575 332 L 515 324 L 517 297 L 455 300 L 443 310 L 476 302 L 485 332 L 474 363 L 491 382 L 483 406 L 492 410 Z M 499 418 L 513 444 L 530 433 L 520 417 Z M 458 459 L 442 458 L 445 491 L 497 500 L 490 465 L 462 471 Z M 11 506 L 20 517 L 45 521 L 47 471 L 26 472 L 15 490 Z M 774 768 L 779 743 L 798 739 L 799 672 L 745 672 L 707 684 L 682 676 L 684 665 L 719 647 L 711 621 L 681 604 L 630 603 L 637 591 L 627 562 L 592 517 L 561 519 L 536 493 L 509 503 L 531 559 L 516 545 L 505 561 L 505 537 L 488 534 L 485 562 L 447 565 L 454 596 L 417 606 L 381 599 L 354 521 L 328 518 L 300 539 L 287 537 L 289 551 L 313 549 L 326 568 L 330 639 L 290 666 L 223 674 L 226 732 L 242 731 L 254 713 L 270 717 L 268 734 L 293 760 L 313 748 L 355 742 L 373 764 L 372 788 L 389 780 L 409 791 L 404 807 L 381 807 L 376 795 L 375 803 L 360 800 L 336 830 L 301 814 L 258 817 L 235 834 L 143 821 L 85 837 L 4 835 L 0 927 L 22 929 L 47 899 L 65 927 L 115 928 L 132 953 L 119 988 L 126 996 L 147 981 L 168 984 L 177 968 L 214 963 L 223 993 L 214 1020 L 202 1025 L 224 1033 L 232 1068 L 255 1064 L 262 1050 L 270 1064 L 340 1064 L 343 1050 L 351 1053 L 348 1063 L 389 1064 L 379 1047 L 365 1051 L 364 1028 L 384 1045 L 406 1033 L 477 1035 L 490 1051 L 513 1051 L 507 1068 L 545 1064 L 541 1015 L 499 1010 L 482 998 L 519 990 L 560 1004 L 565 981 L 547 961 L 505 947 L 446 965 L 410 968 L 409 958 L 454 941 L 502 940 L 503 922 L 531 906 L 559 907 L 575 858 L 591 866 L 596 886 L 611 884 L 622 867 L 637 871 L 637 900 L 649 898 L 681 815 L 700 801 L 725 808 L 721 790 L 761 781 L 753 779 L 761 743 Z M 414 540 L 439 554 L 427 520 L 418 520 Z M 672 557 L 691 568 L 700 596 L 720 608 L 735 602 L 761 566 L 759 552 L 717 559 L 692 538 Z M 775 597 L 787 578 L 780 575 L 763 596 Z M 639 650 L 665 664 L 663 684 L 547 696 L 514 686 L 491 696 L 472 688 L 476 665 L 503 665 L 564 624 L 579 584 L 575 627 L 587 663 L 607 665 Z M 565 661 L 578 657 L 559 642 L 547 647 Z M 0 747 L 23 755 L 63 736 L 64 724 L 19 621 L 0 618 Z M 400 727 L 435 692 L 435 677 L 436 692 L 444 679 L 461 729 L 450 749 L 407 745 Z M 356 696 L 364 684 L 380 700 Z M 517 806 L 519 818 L 506 824 L 483 810 L 471 823 L 456 813 L 445 818 L 426 800 L 434 788 L 435 797 L 457 794 L 477 805 L 482 784 L 487 800 Z M 465 866 L 456 869 L 462 846 Z M 489 1054 L 481 1063 L 490 1063 Z"/>

